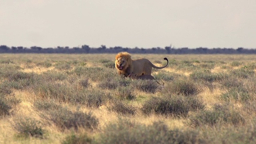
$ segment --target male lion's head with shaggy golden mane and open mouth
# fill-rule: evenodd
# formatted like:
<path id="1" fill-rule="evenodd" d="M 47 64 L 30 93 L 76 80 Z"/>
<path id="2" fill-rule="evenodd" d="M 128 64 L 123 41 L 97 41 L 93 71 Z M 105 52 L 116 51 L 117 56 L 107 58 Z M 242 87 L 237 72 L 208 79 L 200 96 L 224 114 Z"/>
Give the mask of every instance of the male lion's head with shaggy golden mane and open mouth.
<path id="1" fill-rule="evenodd" d="M 116 69 L 125 71 L 131 64 L 131 55 L 128 52 L 119 52 L 116 55 Z"/>

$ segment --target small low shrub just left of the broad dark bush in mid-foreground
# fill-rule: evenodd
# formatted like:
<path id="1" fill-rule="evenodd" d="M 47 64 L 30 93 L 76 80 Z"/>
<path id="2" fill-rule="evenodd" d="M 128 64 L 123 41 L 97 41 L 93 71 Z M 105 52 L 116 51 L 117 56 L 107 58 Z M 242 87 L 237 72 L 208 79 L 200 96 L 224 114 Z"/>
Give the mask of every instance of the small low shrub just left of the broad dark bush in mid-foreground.
<path id="1" fill-rule="evenodd" d="M 119 101 L 119 100 L 114 102 L 113 106 L 111 107 L 111 110 L 119 114 L 134 115 L 136 112 L 136 109 L 133 106 L 124 104 L 122 101 Z"/>

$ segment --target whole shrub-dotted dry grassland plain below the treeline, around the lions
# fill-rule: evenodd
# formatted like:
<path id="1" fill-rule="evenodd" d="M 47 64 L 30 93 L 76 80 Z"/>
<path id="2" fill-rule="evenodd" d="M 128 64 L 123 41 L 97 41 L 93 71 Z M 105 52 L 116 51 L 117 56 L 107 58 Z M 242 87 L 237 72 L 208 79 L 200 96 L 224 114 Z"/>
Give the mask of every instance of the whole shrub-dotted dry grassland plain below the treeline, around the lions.
<path id="1" fill-rule="evenodd" d="M 256 55 L 0 54 L 1 144 L 255 144 Z"/>

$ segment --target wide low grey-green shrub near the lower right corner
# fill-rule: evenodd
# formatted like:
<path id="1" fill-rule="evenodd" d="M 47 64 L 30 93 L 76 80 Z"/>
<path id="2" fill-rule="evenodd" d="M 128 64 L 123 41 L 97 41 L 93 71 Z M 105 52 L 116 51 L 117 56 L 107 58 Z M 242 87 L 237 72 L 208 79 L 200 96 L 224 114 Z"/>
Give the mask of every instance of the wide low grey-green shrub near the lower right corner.
<path id="1" fill-rule="evenodd" d="M 214 126 L 216 124 L 244 124 L 245 119 L 239 112 L 232 108 L 232 105 L 215 105 L 214 110 L 201 111 L 196 116 L 189 118 L 190 126 L 204 126 L 205 124 Z"/>

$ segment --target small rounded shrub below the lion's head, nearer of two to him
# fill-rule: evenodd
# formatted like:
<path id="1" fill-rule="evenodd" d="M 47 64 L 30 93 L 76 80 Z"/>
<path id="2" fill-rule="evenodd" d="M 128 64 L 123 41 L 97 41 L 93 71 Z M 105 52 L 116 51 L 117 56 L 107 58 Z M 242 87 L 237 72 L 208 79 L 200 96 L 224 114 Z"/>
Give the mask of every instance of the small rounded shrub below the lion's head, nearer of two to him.
<path id="1" fill-rule="evenodd" d="M 116 97 L 120 100 L 135 100 L 136 99 L 136 93 L 134 92 L 134 89 L 132 87 L 118 87 L 115 93 Z"/>

